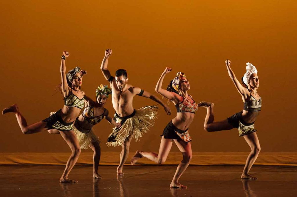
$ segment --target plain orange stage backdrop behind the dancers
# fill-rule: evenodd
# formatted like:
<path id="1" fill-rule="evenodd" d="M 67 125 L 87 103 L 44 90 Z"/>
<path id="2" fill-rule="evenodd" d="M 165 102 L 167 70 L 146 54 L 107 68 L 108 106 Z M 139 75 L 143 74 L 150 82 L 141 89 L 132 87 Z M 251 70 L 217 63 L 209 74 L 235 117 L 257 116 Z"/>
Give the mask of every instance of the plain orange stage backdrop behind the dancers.
<path id="1" fill-rule="evenodd" d="M 52 96 L 61 81 L 63 50 L 70 53 L 67 70 L 80 66 L 88 71 L 82 89 L 92 98 L 98 85 L 107 84 L 99 66 L 105 49 L 111 48 L 110 71 L 127 69 L 129 82 L 149 92 L 154 93 L 166 66 L 173 71 L 165 77 L 163 87 L 176 72 L 186 73 L 194 100 L 215 103 L 215 120 L 243 108 L 225 67 L 228 58 L 238 79 L 245 73 L 246 62 L 258 69 L 258 92 L 263 98 L 262 112 L 255 123 L 262 150 L 259 158 L 278 155 L 270 164 L 296 164 L 296 1 L 17 0 L 1 1 L 0 7 L 0 108 L 17 103 L 29 124 L 63 106 L 59 93 Z M 135 108 L 152 104 L 147 98 L 134 99 Z M 175 112 L 173 104 L 170 107 Z M 106 108 L 113 113 L 110 98 Z M 189 128 L 193 152 L 233 155 L 229 164 L 238 164 L 232 152 L 249 151 L 244 138 L 238 137 L 236 129 L 207 133 L 203 129 L 205 114 L 206 109 L 199 109 Z M 159 135 L 174 115 L 159 110 L 155 127 L 140 143 L 131 143 L 131 153 L 137 149 L 157 151 Z M 23 135 L 13 114 L 0 115 L 0 125 L 2 164 L 16 163 L 22 155 L 38 156 L 40 162 L 47 161 L 40 155 L 69 155 L 69 147 L 59 135 Z M 110 154 L 112 160 L 118 160 L 121 147 L 105 145 L 111 130 L 107 121 L 95 126 L 102 141 L 102 155 Z M 88 162 L 92 159 L 90 151 L 83 151 L 90 155 Z M 15 155 L 20 157 L 10 160 Z M 110 161 L 107 156 L 102 163 Z M 181 159 L 179 154 L 176 157 Z M 34 160 L 20 163 L 30 161 Z M 208 164 L 222 163 L 212 161 Z"/>

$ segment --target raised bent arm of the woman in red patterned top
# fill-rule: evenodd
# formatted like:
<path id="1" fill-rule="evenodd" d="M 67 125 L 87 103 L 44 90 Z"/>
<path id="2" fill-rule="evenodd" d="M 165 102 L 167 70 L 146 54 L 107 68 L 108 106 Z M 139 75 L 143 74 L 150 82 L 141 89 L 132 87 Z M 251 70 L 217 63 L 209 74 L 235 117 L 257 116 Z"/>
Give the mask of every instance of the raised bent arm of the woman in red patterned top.
<path id="1" fill-rule="evenodd" d="M 162 89 L 162 83 L 164 80 L 164 77 L 167 73 L 169 73 L 172 69 L 170 67 L 166 67 L 163 73 L 160 76 L 160 79 L 157 82 L 155 91 L 165 98 L 169 99 L 170 101 L 173 101 L 174 104 L 179 103 L 178 95 L 174 92 L 169 92 L 168 90 Z"/>

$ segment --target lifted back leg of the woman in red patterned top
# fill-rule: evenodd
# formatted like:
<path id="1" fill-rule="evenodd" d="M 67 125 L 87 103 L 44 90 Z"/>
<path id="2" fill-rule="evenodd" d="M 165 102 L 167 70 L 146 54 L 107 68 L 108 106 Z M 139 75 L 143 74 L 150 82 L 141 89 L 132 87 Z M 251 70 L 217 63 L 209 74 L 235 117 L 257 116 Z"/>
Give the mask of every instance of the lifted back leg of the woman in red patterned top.
<path id="1" fill-rule="evenodd" d="M 131 164 L 134 165 L 141 157 L 145 157 L 151 161 L 162 164 L 166 161 L 171 147 L 172 139 L 165 139 L 164 136 L 162 136 L 159 154 L 154 152 L 136 151 L 135 155 L 131 159 Z"/>

